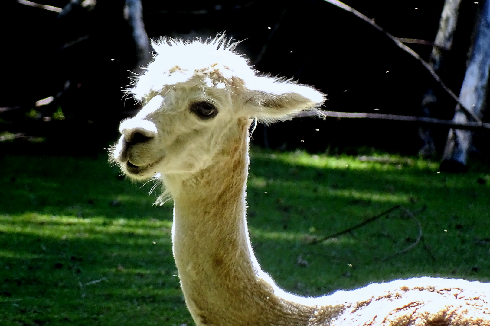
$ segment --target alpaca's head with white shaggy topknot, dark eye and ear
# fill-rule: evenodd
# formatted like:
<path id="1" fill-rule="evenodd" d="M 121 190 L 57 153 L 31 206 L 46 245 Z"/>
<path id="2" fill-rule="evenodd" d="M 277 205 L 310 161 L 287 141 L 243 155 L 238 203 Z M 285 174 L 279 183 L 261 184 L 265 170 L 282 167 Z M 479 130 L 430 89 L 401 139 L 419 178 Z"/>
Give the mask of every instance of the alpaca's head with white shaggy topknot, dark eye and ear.
<path id="1" fill-rule="evenodd" d="M 112 152 L 124 174 L 147 179 L 197 172 L 239 131 L 240 119 L 285 120 L 324 101 L 312 87 L 257 76 L 233 52 L 236 44 L 223 35 L 206 42 L 153 43 L 153 61 L 128 90 L 143 109 L 121 123 Z"/>

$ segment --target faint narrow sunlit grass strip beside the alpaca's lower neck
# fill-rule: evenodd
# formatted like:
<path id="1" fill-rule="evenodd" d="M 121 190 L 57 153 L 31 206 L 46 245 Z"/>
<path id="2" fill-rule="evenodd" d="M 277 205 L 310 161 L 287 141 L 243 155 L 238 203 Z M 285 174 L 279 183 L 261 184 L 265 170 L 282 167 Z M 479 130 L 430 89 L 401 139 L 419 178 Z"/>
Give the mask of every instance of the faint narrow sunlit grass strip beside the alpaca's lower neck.
<path id="1" fill-rule="evenodd" d="M 262 239 L 262 240 L 283 240 L 283 241 L 301 241 L 310 243 L 314 240 L 317 240 L 321 237 L 312 236 L 308 233 L 292 233 L 285 231 L 265 231 L 262 229 L 256 229 L 253 227 L 249 227 L 250 237 L 252 240 L 254 239 Z M 327 241 L 320 242 L 321 245 L 340 245 L 340 244 L 353 244 L 356 243 L 357 240 L 352 239 L 351 237 L 340 237 L 340 238 L 332 238 Z M 252 243 L 253 245 L 253 243 Z"/>

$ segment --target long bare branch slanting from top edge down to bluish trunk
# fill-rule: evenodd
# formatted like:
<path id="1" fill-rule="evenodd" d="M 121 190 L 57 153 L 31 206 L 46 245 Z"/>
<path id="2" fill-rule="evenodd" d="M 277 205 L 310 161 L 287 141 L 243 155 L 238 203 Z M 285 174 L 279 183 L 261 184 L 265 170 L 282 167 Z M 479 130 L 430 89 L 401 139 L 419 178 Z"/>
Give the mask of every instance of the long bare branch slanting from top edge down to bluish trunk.
<path id="1" fill-rule="evenodd" d="M 429 65 L 425 60 L 423 60 L 417 54 L 417 52 L 415 52 L 414 50 L 412 50 L 407 45 L 401 43 L 396 37 L 394 37 L 392 34 L 390 34 L 387 31 L 385 31 L 381 26 L 379 26 L 378 24 L 376 24 L 374 22 L 374 20 L 369 19 L 367 16 L 361 14 L 359 11 L 357 11 L 354 8 L 346 5 L 345 3 L 341 2 L 341 1 L 337 1 L 337 0 L 323 0 L 323 1 L 326 1 L 328 3 L 331 3 L 334 6 L 337 6 L 337 7 L 341 8 L 341 9 L 343 9 L 345 11 L 348 11 L 348 12 L 354 14 L 355 16 L 357 16 L 360 19 L 362 19 L 363 21 L 367 22 L 368 24 L 370 24 L 371 26 L 373 26 L 374 28 L 376 28 L 380 32 L 384 33 L 389 39 L 391 39 L 396 45 L 398 45 L 398 47 L 400 47 L 401 49 L 405 50 L 412 57 L 414 57 L 415 59 L 417 59 L 427 69 L 427 71 L 429 71 L 429 73 L 432 75 L 432 77 L 434 77 L 434 79 L 437 82 L 439 82 L 439 84 L 441 85 L 441 87 L 453 98 L 453 100 L 455 100 L 462 107 L 462 109 L 465 111 L 465 113 L 467 115 L 469 115 L 471 118 L 473 118 L 473 120 L 475 120 L 476 122 L 478 122 L 480 124 L 482 123 L 482 121 L 475 114 L 475 112 L 473 112 L 472 110 L 466 108 L 466 106 L 461 102 L 461 100 L 459 99 L 459 97 L 456 96 L 456 94 L 449 87 L 447 87 L 442 82 L 441 77 L 439 77 L 439 75 L 436 73 L 436 71 L 434 70 L 434 68 L 431 65 Z"/>

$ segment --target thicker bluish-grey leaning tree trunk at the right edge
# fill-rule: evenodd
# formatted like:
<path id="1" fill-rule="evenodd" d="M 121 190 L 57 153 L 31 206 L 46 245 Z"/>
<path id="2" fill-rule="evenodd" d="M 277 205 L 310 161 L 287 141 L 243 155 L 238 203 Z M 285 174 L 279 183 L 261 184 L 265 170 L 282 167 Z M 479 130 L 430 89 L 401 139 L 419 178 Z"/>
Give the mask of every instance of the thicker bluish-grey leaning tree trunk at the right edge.
<path id="1" fill-rule="evenodd" d="M 465 79 L 461 86 L 461 102 L 476 115 L 480 114 L 485 103 L 490 67 L 490 0 L 483 4 L 479 22 L 475 25 L 475 38 L 471 56 L 466 67 Z M 466 114 L 456 106 L 455 122 L 467 122 Z M 472 133 L 469 130 L 450 129 L 442 156 L 441 170 L 466 171 L 468 150 Z"/>

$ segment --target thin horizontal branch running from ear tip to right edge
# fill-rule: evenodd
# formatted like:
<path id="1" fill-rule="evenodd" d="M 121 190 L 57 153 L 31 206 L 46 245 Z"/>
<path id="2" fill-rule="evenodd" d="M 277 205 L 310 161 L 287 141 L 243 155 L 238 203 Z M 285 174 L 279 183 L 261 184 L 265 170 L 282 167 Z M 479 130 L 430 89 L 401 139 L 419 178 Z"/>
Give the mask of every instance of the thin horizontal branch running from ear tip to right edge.
<path id="1" fill-rule="evenodd" d="M 366 113 L 366 112 L 337 112 L 337 111 L 321 111 L 326 117 L 337 118 L 367 118 L 367 119 L 382 119 L 382 120 L 397 120 L 418 122 L 423 124 L 437 124 L 444 127 L 464 129 L 464 130 L 490 130 L 490 123 L 487 122 L 455 122 L 453 120 L 441 120 L 430 117 L 418 117 L 411 115 L 398 114 L 382 114 L 382 113 Z M 304 111 L 296 115 L 296 117 L 319 116 L 318 111 Z"/>

